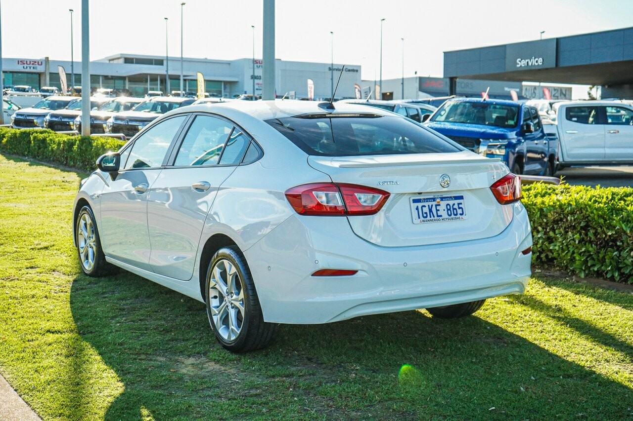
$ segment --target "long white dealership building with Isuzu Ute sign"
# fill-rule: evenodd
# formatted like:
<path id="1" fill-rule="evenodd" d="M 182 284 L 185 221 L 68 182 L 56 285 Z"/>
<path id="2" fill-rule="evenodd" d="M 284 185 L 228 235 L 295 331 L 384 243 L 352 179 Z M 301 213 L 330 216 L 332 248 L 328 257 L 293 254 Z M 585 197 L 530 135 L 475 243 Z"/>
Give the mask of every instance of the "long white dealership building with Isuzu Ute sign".
<path id="1" fill-rule="evenodd" d="M 59 66 L 66 73 L 66 83 L 72 83 L 72 68 L 75 70 L 75 86 L 81 85 L 81 63 L 74 66 L 70 61 L 48 58 L 4 58 L 3 79 L 5 86 L 30 85 L 36 89 L 43 86 L 61 87 Z M 169 69 L 169 89 L 166 70 Z M 261 95 L 261 59 L 215 60 L 184 58 L 183 85 L 185 91 L 197 90 L 197 72 L 204 76 L 205 90 L 210 95 L 232 97 L 239 94 Z M 314 82 L 315 99 L 329 98 L 332 84 L 341 73 L 341 64 L 307 63 L 301 61 L 275 61 L 275 86 L 277 95 L 289 98 L 307 98 L 308 83 Z M 180 57 L 144 56 L 140 54 L 116 54 L 91 61 L 91 87 L 128 89 L 132 95 L 142 97 L 149 90 L 168 92 L 180 90 Z M 254 82 L 254 83 L 253 83 Z M 360 66 L 344 67 L 337 98 L 353 98 L 354 84 L 360 84 Z"/>

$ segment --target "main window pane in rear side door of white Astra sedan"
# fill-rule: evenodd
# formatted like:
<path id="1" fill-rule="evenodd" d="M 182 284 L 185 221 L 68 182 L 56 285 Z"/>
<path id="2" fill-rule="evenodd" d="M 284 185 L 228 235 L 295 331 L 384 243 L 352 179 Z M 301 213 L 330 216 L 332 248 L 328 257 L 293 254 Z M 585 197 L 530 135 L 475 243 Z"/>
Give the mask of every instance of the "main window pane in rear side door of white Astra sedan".
<path id="1" fill-rule="evenodd" d="M 233 125 L 213 116 L 196 116 L 182 140 L 175 166 L 218 164 Z"/>

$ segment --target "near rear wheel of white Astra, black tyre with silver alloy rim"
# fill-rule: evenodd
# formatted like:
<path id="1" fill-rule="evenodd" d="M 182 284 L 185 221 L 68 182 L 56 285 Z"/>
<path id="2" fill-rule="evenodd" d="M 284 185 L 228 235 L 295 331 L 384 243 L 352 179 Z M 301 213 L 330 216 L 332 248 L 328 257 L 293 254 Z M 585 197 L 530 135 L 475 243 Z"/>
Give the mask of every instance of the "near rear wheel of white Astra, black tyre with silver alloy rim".
<path id="1" fill-rule="evenodd" d="M 206 314 L 220 344 L 232 352 L 265 348 L 279 324 L 267 323 L 244 255 L 235 246 L 213 255 L 206 273 Z"/>

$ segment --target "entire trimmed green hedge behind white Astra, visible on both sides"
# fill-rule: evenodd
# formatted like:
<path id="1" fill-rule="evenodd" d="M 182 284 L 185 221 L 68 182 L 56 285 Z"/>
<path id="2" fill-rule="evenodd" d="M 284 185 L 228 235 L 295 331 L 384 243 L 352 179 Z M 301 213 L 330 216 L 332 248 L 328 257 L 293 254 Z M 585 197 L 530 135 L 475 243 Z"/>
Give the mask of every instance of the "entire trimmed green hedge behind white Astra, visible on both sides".
<path id="1" fill-rule="evenodd" d="M 85 171 L 124 144 L 116 138 L 0 128 L 0 152 Z M 523 186 L 522 202 L 532 223 L 535 264 L 633 284 L 633 188 L 535 183 Z"/>

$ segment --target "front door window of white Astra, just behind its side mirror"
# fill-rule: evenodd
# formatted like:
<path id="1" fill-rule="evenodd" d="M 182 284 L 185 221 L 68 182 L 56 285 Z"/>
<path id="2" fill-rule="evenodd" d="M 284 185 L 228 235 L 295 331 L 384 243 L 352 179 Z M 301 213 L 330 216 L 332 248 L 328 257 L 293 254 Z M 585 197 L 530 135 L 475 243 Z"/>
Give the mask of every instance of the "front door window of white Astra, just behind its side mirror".
<path id="1" fill-rule="evenodd" d="M 130 150 L 125 169 L 156 168 L 163 165 L 169 145 L 186 118 L 187 116 L 177 116 L 161 121 L 137 138 Z"/>

